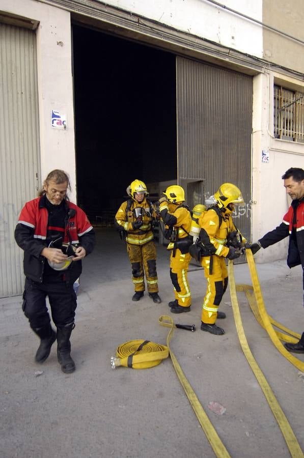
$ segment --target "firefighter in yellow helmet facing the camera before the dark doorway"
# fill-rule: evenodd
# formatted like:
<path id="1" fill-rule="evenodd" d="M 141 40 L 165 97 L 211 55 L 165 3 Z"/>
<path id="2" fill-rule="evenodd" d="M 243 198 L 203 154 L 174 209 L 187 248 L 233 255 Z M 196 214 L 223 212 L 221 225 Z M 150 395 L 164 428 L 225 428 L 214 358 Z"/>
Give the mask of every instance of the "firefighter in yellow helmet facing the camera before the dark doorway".
<path id="1" fill-rule="evenodd" d="M 139 301 L 144 296 L 145 273 L 149 297 L 159 304 L 161 299 L 158 295 L 156 247 L 152 232 L 153 221 L 157 215 L 147 198 L 149 193 L 143 181 L 132 181 L 127 187 L 127 193 L 130 199 L 120 206 L 115 216 L 115 224 L 121 238 L 127 243 L 135 289 L 132 300 Z"/>

